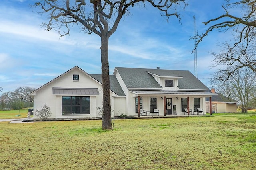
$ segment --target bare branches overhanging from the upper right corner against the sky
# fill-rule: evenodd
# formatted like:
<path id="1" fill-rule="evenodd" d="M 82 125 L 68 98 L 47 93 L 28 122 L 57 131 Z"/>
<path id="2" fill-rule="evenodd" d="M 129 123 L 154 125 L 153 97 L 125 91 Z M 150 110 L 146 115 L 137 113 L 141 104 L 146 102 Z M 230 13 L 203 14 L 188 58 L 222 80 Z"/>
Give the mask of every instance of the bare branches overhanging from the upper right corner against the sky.
<path id="1" fill-rule="evenodd" d="M 255 0 L 226 0 L 222 5 L 224 14 L 214 19 L 203 22 L 209 25 L 208 29 L 202 35 L 194 38 L 197 44 L 200 43 L 208 33 L 217 31 L 227 31 L 230 29 L 234 39 L 230 42 L 221 43 L 224 48 L 219 54 L 212 52 L 215 59 L 215 65 L 222 65 L 215 76 L 222 80 L 227 80 L 237 70 L 247 67 L 256 71 L 255 58 L 255 36 L 256 36 L 256 1 Z M 234 9 L 240 9 L 235 13 Z"/>

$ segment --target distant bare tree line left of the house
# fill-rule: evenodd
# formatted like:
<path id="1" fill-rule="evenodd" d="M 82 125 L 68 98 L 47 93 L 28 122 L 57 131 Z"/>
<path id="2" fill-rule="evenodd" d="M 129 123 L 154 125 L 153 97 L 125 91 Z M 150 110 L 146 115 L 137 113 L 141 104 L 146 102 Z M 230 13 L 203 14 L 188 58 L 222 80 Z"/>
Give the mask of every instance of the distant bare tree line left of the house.
<path id="1" fill-rule="evenodd" d="M 0 88 L 0 90 L 2 87 Z M 0 110 L 4 109 L 22 109 L 33 107 L 33 98 L 29 96 L 31 92 L 36 90 L 33 87 L 19 87 L 14 91 L 5 92 L 0 97 Z"/>

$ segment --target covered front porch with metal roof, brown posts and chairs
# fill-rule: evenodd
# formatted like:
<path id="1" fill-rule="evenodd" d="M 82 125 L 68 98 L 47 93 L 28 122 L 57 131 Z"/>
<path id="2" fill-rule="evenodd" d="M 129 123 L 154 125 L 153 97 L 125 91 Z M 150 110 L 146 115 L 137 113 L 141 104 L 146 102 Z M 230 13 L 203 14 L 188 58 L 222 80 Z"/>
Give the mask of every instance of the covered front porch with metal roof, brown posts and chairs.
<path id="1" fill-rule="evenodd" d="M 210 98 L 211 106 L 211 97 L 214 95 L 205 91 L 131 90 L 130 92 L 135 101 L 134 115 L 138 117 L 205 115 L 205 97 Z"/>

